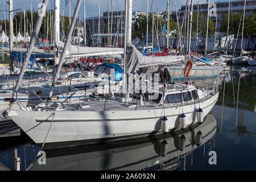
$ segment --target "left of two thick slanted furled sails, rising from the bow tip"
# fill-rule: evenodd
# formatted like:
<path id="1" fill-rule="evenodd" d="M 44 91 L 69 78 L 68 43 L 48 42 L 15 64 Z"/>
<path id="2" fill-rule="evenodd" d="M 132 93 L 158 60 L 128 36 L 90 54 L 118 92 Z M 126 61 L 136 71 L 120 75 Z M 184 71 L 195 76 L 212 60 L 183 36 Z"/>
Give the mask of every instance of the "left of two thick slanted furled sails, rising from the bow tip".
<path id="1" fill-rule="evenodd" d="M 34 31 L 32 33 L 32 36 L 31 36 L 31 39 L 30 39 L 30 43 L 28 44 L 27 53 L 26 53 L 26 55 L 24 57 L 24 62 L 22 64 L 22 68 L 20 69 L 18 81 L 16 82 L 13 96 L 18 91 L 19 86 L 20 86 L 20 84 L 22 82 L 22 78 L 23 78 L 24 73 L 25 73 L 26 68 L 27 68 L 28 60 L 30 59 L 32 50 L 33 50 L 34 45 L 36 43 L 36 39 L 38 38 L 38 33 L 39 33 L 40 27 L 42 25 L 42 20 L 44 18 L 44 14 L 46 13 L 46 7 L 48 5 L 48 1 L 49 0 L 43 0 L 43 4 L 42 4 L 42 6 L 41 6 L 41 8 L 39 10 L 40 15 L 38 16 L 38 19 L 36 20 Z"/>

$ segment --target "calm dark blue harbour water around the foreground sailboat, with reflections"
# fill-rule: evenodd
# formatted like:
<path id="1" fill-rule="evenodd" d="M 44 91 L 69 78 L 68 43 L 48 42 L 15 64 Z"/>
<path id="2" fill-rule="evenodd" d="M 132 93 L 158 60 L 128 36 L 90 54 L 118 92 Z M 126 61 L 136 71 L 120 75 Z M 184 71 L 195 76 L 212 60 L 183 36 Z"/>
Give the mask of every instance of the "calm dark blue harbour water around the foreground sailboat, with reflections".
<path id="1" fill-rule="evenodd" d="M 256 169 L 256 67 L 233 67 L 221 80 L 218 102 L 201 125 L 129 142 L 48 150 L 47 165 L 38 164 L 39 147 L 29 144 L 18 148 L 20 168 L 33 164 L 31 170 Z M 209 151 L 216 152 L 216 165 L 209 164 Z M 13 150 L 0 151 L 0 163 L 14 169 L 13 156 Z"/>

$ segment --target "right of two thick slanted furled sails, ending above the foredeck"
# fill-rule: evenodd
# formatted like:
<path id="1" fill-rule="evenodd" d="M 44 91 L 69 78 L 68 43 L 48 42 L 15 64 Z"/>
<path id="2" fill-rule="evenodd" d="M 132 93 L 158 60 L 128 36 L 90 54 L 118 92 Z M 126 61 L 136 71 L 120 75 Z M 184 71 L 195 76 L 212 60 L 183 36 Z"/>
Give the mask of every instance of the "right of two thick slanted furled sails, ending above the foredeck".
<path id="1" fill-rule="evenodd" d="M 64 63 L 65 55 L 66 55 L 67 49 L 68 49 L 69 44 L 70 44 L 70 40 L 71 40 L 71 37 L 72 37 L 72 32 L 73 32 L 75 24 L 76 24 L 76 19 L 77 19 L 77 16 L 79 14 L 79 9 L 80 9 L 81 2 L 82 2 L 82 0 L 77 1 L 76 10 L 75 10 L 75 13 L 74 13 L 73 18 L 72 18 L 71 26 L 69 27 L 69 30 L 68 30 L 68 36 L 67 36 L 67 39 L 65 40 L 63 51 L 62 51 L 61 56 L 60 56 L 60 63 L 58 64 L 57 71 L 55 72 L 55 75 L 54 75 L 53 80 L 52 80 L 51 90 L 49 92 L 49 98 L 52 97 L 53 89 L 55 88 L 56 81 L 59 79 L 60 70 L 61 70 L 61 67 Z"/>

